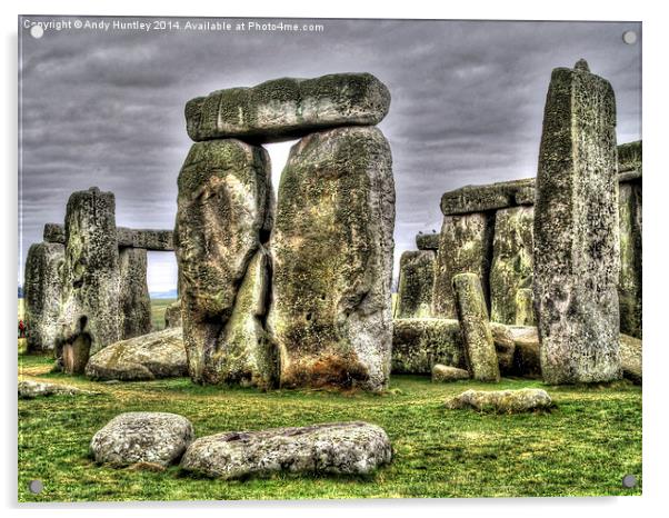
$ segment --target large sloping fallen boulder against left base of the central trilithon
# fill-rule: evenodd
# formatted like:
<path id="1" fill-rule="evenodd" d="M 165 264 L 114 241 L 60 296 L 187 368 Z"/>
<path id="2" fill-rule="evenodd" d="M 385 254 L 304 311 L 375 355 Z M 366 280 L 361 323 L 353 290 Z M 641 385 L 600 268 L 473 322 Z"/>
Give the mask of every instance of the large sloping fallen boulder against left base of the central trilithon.
<path id="1" fill-rule="evenodd" d="M 86 376 L 141 381 L 188 376 L 181 328 L 169 328 L 107 346 L 90 357 Z"/>

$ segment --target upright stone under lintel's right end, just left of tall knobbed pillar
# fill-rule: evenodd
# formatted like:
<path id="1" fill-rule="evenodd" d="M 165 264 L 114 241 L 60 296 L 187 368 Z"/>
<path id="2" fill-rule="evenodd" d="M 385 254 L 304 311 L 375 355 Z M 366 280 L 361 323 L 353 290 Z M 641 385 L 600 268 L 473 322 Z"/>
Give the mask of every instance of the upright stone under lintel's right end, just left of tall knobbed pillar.
<path id="1" fill-rule="evenodd" d="M 490 268 L 492 321 L 518 323 L 520 313 L 526 310 L 518 307 L 517 295 L 520 289 L 532 286 L 533 222 L 533 207 L 501 209 L 496 213 Z"/>

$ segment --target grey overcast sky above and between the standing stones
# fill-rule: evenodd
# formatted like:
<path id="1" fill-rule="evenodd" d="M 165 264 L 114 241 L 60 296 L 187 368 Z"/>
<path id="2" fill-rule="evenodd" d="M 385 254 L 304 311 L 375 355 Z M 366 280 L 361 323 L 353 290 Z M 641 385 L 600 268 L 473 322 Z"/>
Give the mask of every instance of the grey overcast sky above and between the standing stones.
<path id="1" fill-rule="evenodd" d="M 113 191 L 119 226 L 172 228 L 191 145 L 183 106 L 221 88 L 352 71 L 388 86 L 380 128 L 393 156 L 396 275 L 416 233 L 439 230 L 442 192 L 536 175 L 552 68 L 586 58 L 616 90 L 618 141 L 641 138 L 641 44 L 622 41 L 639 23 L 298 20 L 323 30 L 281 32 L 187 31 L 203 20 L 171 19 L 180 30 L 47 27 L 39 39 L 24 28 L 77 20 L 151 21 L 19 20 L 19 281 L 29 246 L 46 222 L 62 222 L 74 190 Z M 291 145 L 268 146 L 274 185 Z M 176 277 L 173 255 L 150 255 L 151 291 Z"/>

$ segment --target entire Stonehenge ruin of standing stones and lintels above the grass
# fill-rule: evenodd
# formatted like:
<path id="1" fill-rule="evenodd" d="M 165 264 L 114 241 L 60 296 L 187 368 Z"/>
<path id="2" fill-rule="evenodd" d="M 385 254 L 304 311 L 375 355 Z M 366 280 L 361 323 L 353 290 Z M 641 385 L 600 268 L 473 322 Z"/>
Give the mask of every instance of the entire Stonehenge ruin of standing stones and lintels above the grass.
<path id="1" fill-rule="evenodd" d="M 174 230 L 116 227 L 111 192 L 72 193 L 27 257 L 29 350 L 100 379 L 162 376 L 141 338 L 154 250 L 179 267 L 164 363 L 197 383 L 382 391 L 391 371 L 436 365 L 640 381 L 642 149 L 617 146 L 610 84 L 585 61 L 553 70 L 537 178 L 443 193 L 440 231 L 400 258 L 395 307 L 392 156 L 376 127 L 389 106 L 369 73 L 190 100 Z M 274 197 L 263 145 L 296 138 Z M 110 345 L 140 358 L 130 375 L 100 355 Z"/>

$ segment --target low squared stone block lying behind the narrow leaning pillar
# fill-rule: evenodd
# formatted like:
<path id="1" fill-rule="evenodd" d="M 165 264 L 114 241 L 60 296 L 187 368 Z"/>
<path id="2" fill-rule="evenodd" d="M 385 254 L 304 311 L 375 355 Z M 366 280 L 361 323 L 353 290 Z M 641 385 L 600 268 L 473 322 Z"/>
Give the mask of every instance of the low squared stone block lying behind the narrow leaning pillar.
<path id="1" fill-rule="evenodd" d="M 508 326 L 490 322 L 499 368 L 510 372 L 516 341 Z M 536 329 L 536 328 L 535 328 Z M 396 318 L 392 327 L 392 372 L 429 375 L 442 363 L 467 368 L 458 320 L 446 318 Z"/>

